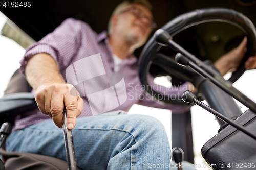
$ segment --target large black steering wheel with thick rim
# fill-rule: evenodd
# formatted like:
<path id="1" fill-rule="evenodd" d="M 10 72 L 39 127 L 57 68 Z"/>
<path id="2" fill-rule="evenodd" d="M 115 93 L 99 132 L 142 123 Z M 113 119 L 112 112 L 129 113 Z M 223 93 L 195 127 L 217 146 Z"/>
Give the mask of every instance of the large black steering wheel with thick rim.
<path id="1" fill-rule="evenodd" d="M 161 29 L 166 30 L 171 36 L 175 36 L 179 32 L 205 22 L 227 22 L 238 28 L 240 28 L 247 36 L 247 52 L 243 58 L 237 71 L 232 73 L 229 81 L 235 82 L 245 71 L 245 61 L 255 54 L 256 49 L 256 29 L 253 23 L 242 13 L 227 8 L 203 8 L 197 9 L 185 14 L 179 15 L 176 18 L 170 20 Z M 149 72 L 152 62 L 162 66 L 167 72 L 172 72 L 173 75 L 180 78 L 183 81 L 192 82 L 197 76 L 195 72 L 189 68 L 180 66 L 176 61 L 164 54 L 158 53 L 161 46 L 157 44 L 152 37 L 144 46 L 141 55 L 139 57 L 139 78 L 143 87 L 148 87 L 147 74 Z M 153 96 L 159 96 L 157 91 L 153 88 L 146 88 L 146 92 Z M 165 98 L 156 99 L 165 103 L 171 104 L 184 104 L 182 100 L 172 100 L 168 96 Z"/>

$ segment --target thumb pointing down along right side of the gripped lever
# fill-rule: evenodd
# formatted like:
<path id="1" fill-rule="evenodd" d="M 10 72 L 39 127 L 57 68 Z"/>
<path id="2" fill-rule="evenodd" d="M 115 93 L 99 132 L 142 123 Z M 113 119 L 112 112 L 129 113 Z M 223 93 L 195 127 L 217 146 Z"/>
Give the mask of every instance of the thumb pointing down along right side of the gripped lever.
<path id="1" fill-rule="evenodd" d="M 67 110 L 67 128 L 72 130 L 76 125 L 77 115 L 77 97 L 66 93 L 64 96 L 64 103 Z"/>

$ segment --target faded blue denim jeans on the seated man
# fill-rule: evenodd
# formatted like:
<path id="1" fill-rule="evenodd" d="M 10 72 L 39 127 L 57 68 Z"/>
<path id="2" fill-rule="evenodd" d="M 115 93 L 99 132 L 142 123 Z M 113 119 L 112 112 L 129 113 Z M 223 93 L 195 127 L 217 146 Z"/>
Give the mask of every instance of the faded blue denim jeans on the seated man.
<path id="1" fill-rule="evenodd" d="M 145 115 L 114 111 L 77 118 L 72 130 L 81 169 L 169 169 L 170 147 L 163 125 Z M 14 131 L 6 150 L 66 160 L 63 131 L 52 120 Z M 152 166 L 153 167 L 153 166 Z"/>

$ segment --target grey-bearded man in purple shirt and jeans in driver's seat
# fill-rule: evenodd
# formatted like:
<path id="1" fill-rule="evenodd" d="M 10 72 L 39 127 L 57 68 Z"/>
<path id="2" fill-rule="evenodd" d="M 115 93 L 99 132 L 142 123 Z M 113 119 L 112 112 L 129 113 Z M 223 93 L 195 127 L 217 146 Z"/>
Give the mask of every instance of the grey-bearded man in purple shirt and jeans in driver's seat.
<path id="1" fill-rule="evenodd" d="M 8 138 L 6 150 L 66 160 L 63 132 L 59 129 L 66 106 L 78 167 L 148 169 L 150 164 L 168 165 L 171 152 L 163 125 L 150 116 L 127 115 L 120 111 L 128 111 L 135 103 L 170 109 L 173 113 L 189 109 L 135 96 L 135 92 L 142 95 L 144 92 L 142 89 L 134 91 L 140 81 L 133 52 L 146 42 L 153 27 L 151 6 L 147 1 L 125 1 L 113 12 L 108 33 L 96 34 L 86 23 L 70 18 L 30 46 L 20 61 L 20 71 L 33 87 L 40 111 L 33 110 L 15 121 L 15 131 Z M 217 61 L 222 74 L 238 66 L 245 46 L 246 38 L 239 47 Z M 88 96 L 71 95 L 70 89 L 74 86 L 66 83 L 66 69 L 72 66 L 77 72 L 85 70 L 74 63 L 95 54 L 100 54 L 106 72 L 119 72 L 123 76 L 126 91 L 132 91 L 134 98 L 128 97 L 122 104 L 119 102 L 119 106 L 108 113 L 92 116 L 92 106 L 103 106 L 97 106 L 97 100 L 89 104 Z M 236 60 L 230 54 L 235 54 L 231 56 Z M 248 60 L 247 67 L 255 67 L 255 57 Z M 179 89 L 161 89 L 169 94 L 181 94 L 187 85 Z"/>

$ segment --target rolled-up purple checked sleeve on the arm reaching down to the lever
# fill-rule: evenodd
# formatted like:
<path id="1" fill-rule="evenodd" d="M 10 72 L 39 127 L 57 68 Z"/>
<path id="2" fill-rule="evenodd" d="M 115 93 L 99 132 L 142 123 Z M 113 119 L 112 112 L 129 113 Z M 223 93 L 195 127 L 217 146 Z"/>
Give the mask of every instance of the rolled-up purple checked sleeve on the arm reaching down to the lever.
<path id="1" fill-rule="evenodd" d="M 73 18 L 63 21 L 52 33 L 26 49 L 24 57 L 20 60 L 19 70 L 22 75 L 25 76 L 27 61 L 38 53 L 51 55 L 59 69 L 67 67 L 80 46 L 80 34 L 81 21 Z"/>

